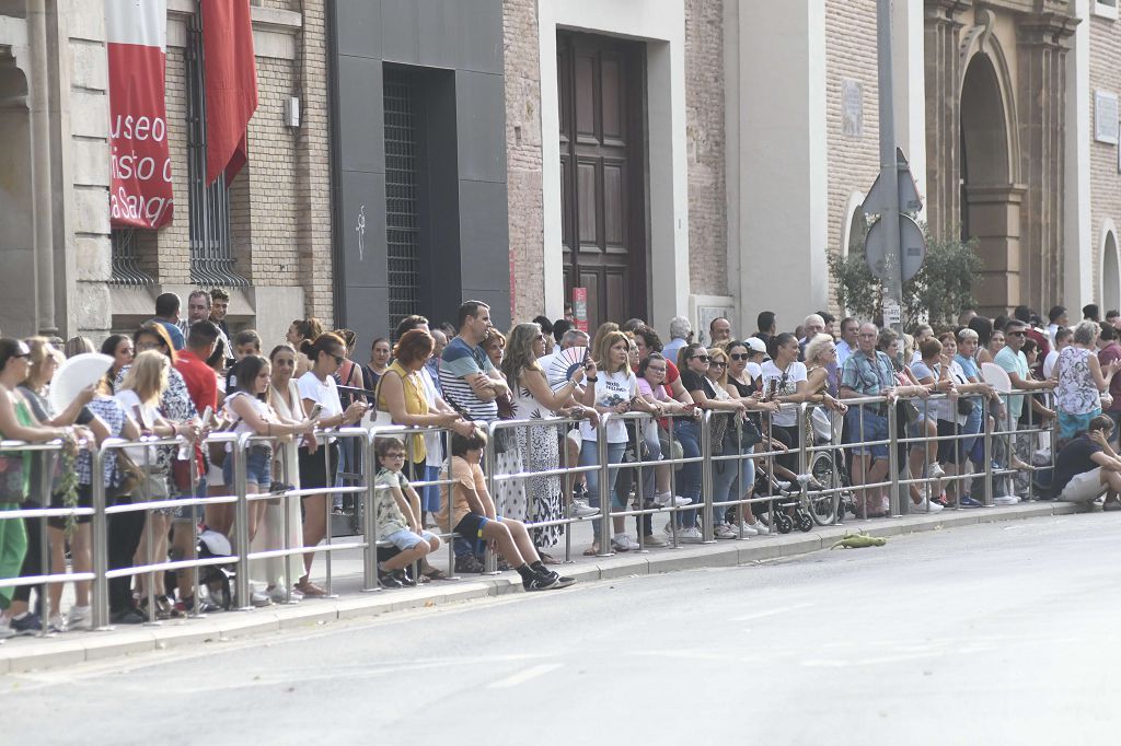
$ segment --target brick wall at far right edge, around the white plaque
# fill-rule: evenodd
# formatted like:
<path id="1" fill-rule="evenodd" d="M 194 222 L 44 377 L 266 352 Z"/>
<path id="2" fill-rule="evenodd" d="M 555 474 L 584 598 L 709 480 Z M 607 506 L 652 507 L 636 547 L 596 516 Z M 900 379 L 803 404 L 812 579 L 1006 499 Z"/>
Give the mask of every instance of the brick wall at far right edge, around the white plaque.
<path id="1" fill-rule="evenodd" d="M 1083 21 L 1086 22 L 1086 21 Z M 1093 246 L 1093 293 L 1099 297 L 1102 267 L 1102 225 L 1112 220 L 1121 230 L 1121 175 L 1118 174 L 1118 146 L 1094 140 L 1094 92 L 1103 91 L 1121 95 L 1121 80 L 1117 71 L 1121 67 L 1121 26 L 1119 22 L 1091 16 L 1090 20 L 1090 215 L 1091 229 L 1087 241 Z M 1121 236 L 1119 236 L 1121 241 Z M 1102 314 L 1109 310 L 1102 308 Z M 1073 319 L 1076 314 L 1071 315 Z"/>

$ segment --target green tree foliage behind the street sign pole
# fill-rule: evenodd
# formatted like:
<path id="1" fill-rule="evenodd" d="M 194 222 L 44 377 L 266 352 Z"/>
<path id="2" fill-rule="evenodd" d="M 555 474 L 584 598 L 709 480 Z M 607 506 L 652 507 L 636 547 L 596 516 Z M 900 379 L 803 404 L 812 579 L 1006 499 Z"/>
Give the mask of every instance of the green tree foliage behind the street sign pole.
<path id="1" fill-rule="evenodd" d="M 976 305 L 973 282 L 981 271 L 976 239 L 962 242 L 938 239 L 923 224 L 926 259 L 918 273 L 904 283 L 904 325 L 923 320 L 935 327 L 951 325 L 963 308 Z M 826 252 L 830 273 L 836 281 L 837 301 L 850 314 L 877 323 L 882 319 L 883 282 L 872 273 L 863 252 L 863 241 L 846 257 Z"/>

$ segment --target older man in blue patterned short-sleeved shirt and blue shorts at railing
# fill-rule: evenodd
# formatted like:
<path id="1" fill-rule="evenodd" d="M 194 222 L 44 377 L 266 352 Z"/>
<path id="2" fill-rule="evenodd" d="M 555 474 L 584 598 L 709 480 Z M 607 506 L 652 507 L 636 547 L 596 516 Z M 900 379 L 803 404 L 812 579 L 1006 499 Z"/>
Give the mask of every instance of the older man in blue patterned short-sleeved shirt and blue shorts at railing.
<path id="1" fill-rule="evenodd" d="M 868 442 L 888 439 L 887 407 L 895 404 L 896 374 L 891 358 L 876 348 L 880 330 L 874 324 L 864 324 L 856 335 L 856 351 L 841 369 L 841 399 L 859 397 L 886 397 L 887 403 L 858 404 L 849 408 L 845 416 L 847 435 L 845 442 Z M 888 446 L 858 446 L 852 449 L 853 485 L 877 484 L 888 474 Z M 869 517 L 884 515 L 882 487 L 862 491 L 864 509 Z"/>

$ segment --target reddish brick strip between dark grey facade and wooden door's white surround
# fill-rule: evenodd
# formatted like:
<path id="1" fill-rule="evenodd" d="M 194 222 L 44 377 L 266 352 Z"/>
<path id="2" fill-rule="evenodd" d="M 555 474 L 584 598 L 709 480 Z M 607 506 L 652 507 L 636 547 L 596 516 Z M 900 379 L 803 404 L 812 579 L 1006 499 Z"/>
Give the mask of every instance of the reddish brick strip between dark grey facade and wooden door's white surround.
<path id="1" fill-rule="evenodd" d="M 540 59 L 536 0 L 503 0 L 511 318 L 544 308 Z"/>

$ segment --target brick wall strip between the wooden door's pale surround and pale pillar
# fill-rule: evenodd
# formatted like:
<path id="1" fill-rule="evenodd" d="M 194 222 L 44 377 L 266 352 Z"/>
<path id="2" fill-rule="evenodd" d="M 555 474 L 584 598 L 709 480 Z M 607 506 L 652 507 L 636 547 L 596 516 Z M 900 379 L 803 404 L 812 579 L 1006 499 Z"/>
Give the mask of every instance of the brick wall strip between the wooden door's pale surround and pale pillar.
<path id="1" fill-rule="evenodd" d="M 724 137 L 724 2 L 685 2 L 685 136 L 689 189 L 689 290 L 728 295 Z"/>

